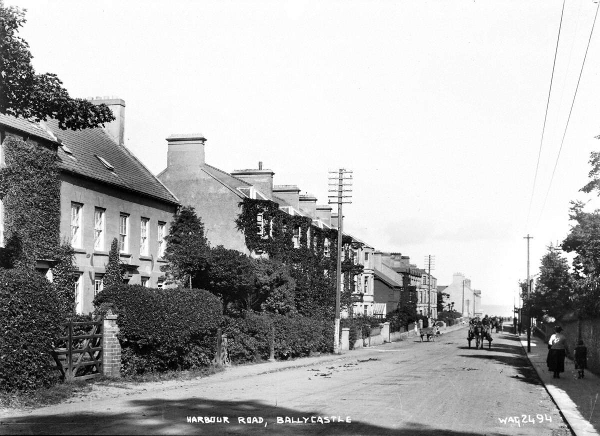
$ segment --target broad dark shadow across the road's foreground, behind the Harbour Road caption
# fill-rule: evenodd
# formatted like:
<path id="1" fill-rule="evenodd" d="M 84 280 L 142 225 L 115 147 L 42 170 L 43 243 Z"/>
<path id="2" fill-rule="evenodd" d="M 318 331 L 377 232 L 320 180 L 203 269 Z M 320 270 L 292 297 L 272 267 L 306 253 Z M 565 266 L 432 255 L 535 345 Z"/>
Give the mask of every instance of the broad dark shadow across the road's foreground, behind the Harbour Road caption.
<path id="1" fill-rule="evenodd" d="M 351 423 L 310 423 L 311 417 L 323 417 L 318 411 L 299 411 L 267 405 L 257 401 L 209 401 L 203 398 L 133 400 L 131 412 L 111 413 L 90 411 L 56 415 L 35 415 L 4 418 L 0 421 L 2 434 L 200 434 L 200 435 L 420 435 L 479 436 L 475 432 L 451 431 L 440 423 L 425 425 L 403 423 L 391 429 L 352 420 Z M 229 423 L 188 423 L 188 416 L 228 417 Z M 248 422 L 239 423 L 238 417 Z M 293 418 L 302 423 L 277 423 L 278 417 Z M 260 419 L 259 419 L 260 418 Z M 302 418 L 308 418 L 304 423 Z M 345 416 L 342 416 L 346 419 Z M 330 418 L 331 419 L 331 418 Z M 198 419 L 196 419 L 198 420 Z M 261 422 L 257 422 L 261 421 Z M 265 426 L 266 423 L 266 426 Z M 487 433 L 488 436 L 499 435 Z"/>

